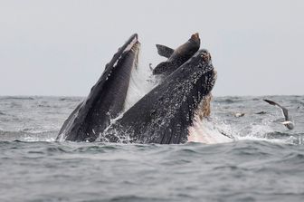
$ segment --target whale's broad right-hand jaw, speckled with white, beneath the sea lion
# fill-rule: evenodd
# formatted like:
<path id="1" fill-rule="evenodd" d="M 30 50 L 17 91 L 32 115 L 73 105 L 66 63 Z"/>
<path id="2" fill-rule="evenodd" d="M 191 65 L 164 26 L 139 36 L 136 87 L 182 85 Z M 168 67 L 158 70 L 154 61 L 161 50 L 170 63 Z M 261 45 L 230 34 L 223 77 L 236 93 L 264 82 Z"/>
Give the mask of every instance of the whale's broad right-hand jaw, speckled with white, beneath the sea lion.
<path id="1" fill-rule="evenodd" d="M 210 53 L 200 50 L 100 135 L 101 141 L 179 144 L 214 87 Z"/>

